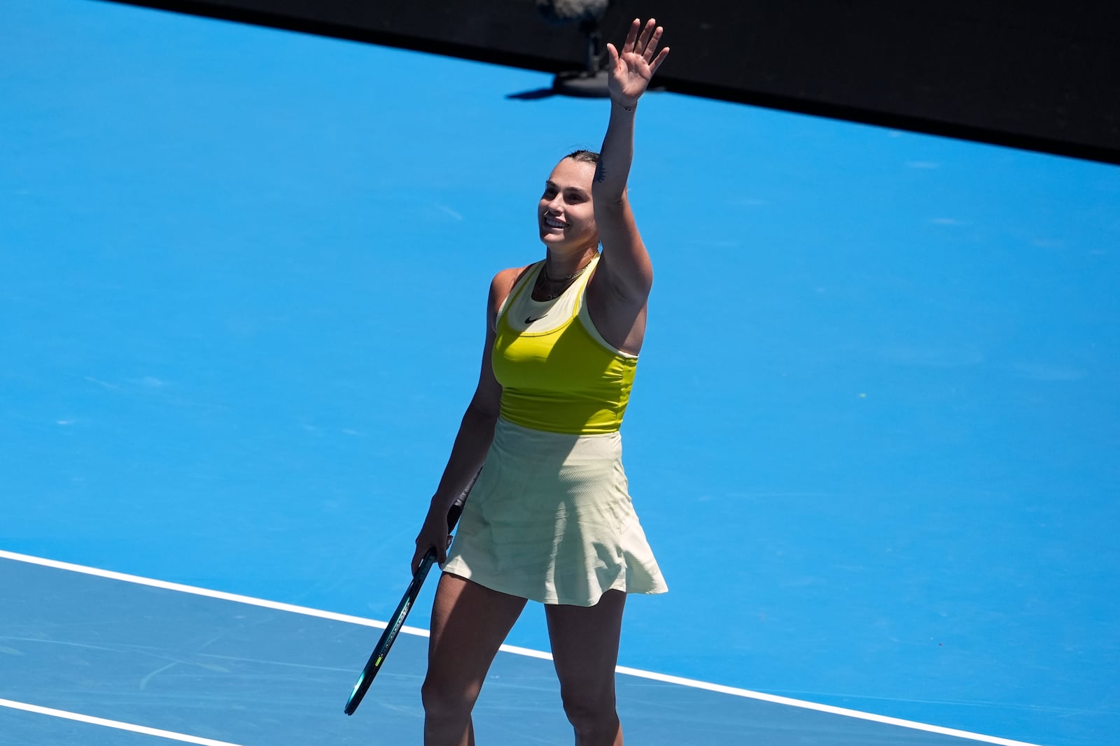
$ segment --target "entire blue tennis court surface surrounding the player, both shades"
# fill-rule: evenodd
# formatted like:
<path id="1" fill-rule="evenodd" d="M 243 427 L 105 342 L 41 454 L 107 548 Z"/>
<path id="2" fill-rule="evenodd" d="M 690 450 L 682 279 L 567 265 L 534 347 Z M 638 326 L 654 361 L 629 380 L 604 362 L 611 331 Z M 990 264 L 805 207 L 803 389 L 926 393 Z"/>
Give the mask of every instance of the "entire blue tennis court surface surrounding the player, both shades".
<path id="1" fill-rule="evenodd" d="M 0 699 L 48 708 L 0 707 L 0 744 L 166 739 L 58 712 L 418 743 L 421 636 L 342 714 L 357 620 L 407 585 L 488 280 L 539 257 L 601 102 L 92 0 L 0 17 L 0 550 L 334 614 L 0 559 Z M 1117 743 L 1120 169 L 669 94 L 636 159 L 657 277 L 623 437 L 670 594 L 628 601 L 619 663 Z M 508 642 L 547 649 L 539 608 Z M 479 743 L 570 742 L 550 665 L 502 655 Z M 619 698 L 633 744 L 964 740 Z"/>

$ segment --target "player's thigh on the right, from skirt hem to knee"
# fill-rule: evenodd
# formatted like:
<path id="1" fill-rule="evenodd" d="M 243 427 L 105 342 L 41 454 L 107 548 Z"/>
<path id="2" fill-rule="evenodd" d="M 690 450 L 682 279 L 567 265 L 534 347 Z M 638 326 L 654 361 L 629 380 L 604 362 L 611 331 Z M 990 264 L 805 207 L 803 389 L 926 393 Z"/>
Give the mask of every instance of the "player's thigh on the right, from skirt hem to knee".
<path id="1" fill-rule="evenodd" d="M 595 606 L 545 605 L 561 689 L 614 691 L 626 594 L 607 591 Z"/>

